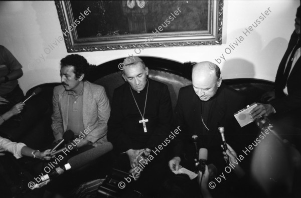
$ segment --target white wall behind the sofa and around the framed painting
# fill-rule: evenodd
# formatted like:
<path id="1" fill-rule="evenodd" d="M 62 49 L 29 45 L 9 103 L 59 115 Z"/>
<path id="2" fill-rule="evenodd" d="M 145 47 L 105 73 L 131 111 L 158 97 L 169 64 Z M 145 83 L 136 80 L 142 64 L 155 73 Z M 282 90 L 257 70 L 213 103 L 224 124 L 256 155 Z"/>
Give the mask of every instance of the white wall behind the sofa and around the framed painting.
<path id="1" fill-rule="evenodd" d="M 274 81 L 278 64 L 294 30 L 298 6 L 298 0 L 225 0 L 222 45 L 150 48 L 144 49 L 139 55 L 162 57 L 181 63 L 216 63 L 215 59 L 223 53 L 226 61 L 222 61 L 219 66 L 224 79 L 257 78 Z M 271 13 L 245 36 L 242 31 L 268 8 Z M 51 52 L 46 50 L 48 54 L 44 49 L 62 35 L 54 2 L 0 2 L 0 45 L 6 46 L 23 65 L 24 76 L 19 84 L 24 92 L 42 83 L 60 81 L 60 60 L 69 54 L 65 43 L 57 42 Z M 234 46 L 239 36 L 243 36 L 244 40 L 238 42 L 231 53 L 227 50 L 229 54 L 226 54 L 225 49 L 229 44 Z M 134 50 L 79 54 L 89 63 L 99 65 L 134 54 Z"/>

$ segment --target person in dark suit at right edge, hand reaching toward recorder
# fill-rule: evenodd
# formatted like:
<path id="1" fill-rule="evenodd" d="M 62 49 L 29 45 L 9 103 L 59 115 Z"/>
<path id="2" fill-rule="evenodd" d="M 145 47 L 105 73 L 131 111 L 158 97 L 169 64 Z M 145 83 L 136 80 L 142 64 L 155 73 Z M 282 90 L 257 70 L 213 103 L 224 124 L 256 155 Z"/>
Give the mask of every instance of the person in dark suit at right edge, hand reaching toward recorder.
<path id="1" fill-rule="evenodd" d="M 263 94 L 262 100 L 269 104 L 257 103 L 250 113 L 253 119 L 276 113 L 277 117 L 286 117 L 289 125 L 300 126 L 301 110 L 301 59 L 300 59 L 300 17 L 298 7 L 295 18 L 295 31 L 292 33 L 287 50 L 279 64 L 274 90 Z M 288 124 L 288 123 L 287 123 Z"/>

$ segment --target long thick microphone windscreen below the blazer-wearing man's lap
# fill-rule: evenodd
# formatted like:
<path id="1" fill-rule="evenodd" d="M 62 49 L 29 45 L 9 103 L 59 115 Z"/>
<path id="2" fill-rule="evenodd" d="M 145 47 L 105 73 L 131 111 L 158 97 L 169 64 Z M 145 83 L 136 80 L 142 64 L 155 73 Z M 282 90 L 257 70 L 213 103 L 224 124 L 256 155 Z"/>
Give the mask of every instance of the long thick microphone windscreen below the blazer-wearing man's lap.
<path id="1" fill-rule="evenodd" d="M 105 142 L 102 145 L 97 146 L 96 148 L 92 148 L 74 157 L 71 157 L 68 160 L 68 163 L 70 164 L 72 169 L 76 169 L 90 163 L 94 159 L 97 159 L 98 157 L 100 157 L 101 155 L 107 153 L 112 149 L 113 149 L 113 145 L 111 144 L 111 142 Z"/>

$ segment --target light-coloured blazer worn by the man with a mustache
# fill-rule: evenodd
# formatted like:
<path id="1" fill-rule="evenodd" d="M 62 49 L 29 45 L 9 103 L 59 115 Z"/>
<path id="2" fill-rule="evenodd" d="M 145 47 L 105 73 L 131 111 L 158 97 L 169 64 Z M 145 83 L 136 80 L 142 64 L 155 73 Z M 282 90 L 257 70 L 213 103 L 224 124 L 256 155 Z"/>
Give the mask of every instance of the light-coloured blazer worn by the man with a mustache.
<path id="1" fill-rule="evenodd" d="M 53 90 L 52 130 L 56 140 L 62 139 L 68 125 L 69 94 L 63 85 Z M 84 81 L 83 124 L 84 139 L 93 146 L 107 142 L 107 122 L 110 117 L 110 103 L 104 87 Z M 82 136 L 83 136 L 82 135 Z"/>

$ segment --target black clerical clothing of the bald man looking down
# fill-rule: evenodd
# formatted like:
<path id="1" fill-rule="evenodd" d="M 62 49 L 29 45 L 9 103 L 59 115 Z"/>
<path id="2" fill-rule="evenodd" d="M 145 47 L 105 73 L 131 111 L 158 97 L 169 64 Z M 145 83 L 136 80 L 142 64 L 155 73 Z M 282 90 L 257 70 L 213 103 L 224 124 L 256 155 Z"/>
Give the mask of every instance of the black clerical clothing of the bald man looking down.
<path id="1" fill-rule="evenodd" d="M 224 84 L 208 101 L 201 101 L 192 85 L 181 88 L 175 109 L 175 124 L 180 125 L 182 132 L 176 140 L 174 156 L 179 156 L 181 164 L 193 171 L 196 152 L 192 136 L 197 135 L 198 148 L 208 149 L 207 164 L 213 163 L 218 172 L 224 171 L 227 164 L 222 154 L 218 127 L 224 127 L 227 143 L 239 155 L 242 149 L 241 128 L 233 114 L 244 107 L 244 97 Z"/>

